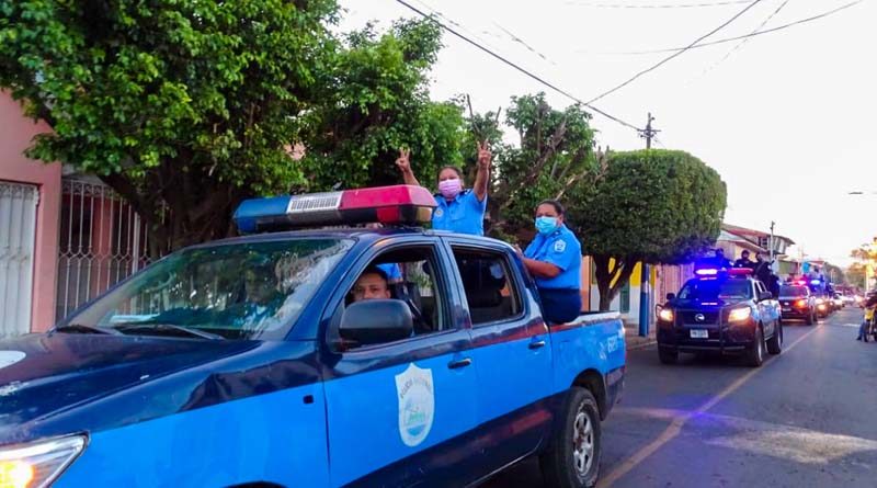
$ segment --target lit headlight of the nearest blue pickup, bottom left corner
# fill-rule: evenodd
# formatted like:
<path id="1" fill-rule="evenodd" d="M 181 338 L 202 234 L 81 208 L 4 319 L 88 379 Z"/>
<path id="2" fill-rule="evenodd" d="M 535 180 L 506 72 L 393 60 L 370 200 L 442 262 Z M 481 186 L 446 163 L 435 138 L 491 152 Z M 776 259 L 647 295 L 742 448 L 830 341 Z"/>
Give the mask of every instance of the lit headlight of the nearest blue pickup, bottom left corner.
<path id="1" fill-rule="evenodd" d="M 0 488 L 48 487 L 84 447 L 86 438 L 77 435 L 0 449 Z"/>

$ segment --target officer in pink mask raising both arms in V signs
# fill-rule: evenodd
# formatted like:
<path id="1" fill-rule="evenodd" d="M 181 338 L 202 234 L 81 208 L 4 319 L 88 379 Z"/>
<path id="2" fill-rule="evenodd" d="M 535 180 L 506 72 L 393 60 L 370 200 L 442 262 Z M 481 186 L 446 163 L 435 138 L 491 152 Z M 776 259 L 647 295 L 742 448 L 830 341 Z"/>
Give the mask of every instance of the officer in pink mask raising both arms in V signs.
<path id="1" fill-rule="evenodd" d="M 411 151 L 402 149 L 396 164 L 402 172 L 406 184 L 420 186 L 411 171 Z M 478 143 L 478 174 L 475 185 L 466 190 L 463 173 L 458 168 L 446 166 L 438 171 L 438 193 L 436 207 L 432 214 L 432 227 L 459 234 L 485 235 L 485 212 L 487 211 L 487 188 L 490 180 L 492 155 L 487 141 Z"/>

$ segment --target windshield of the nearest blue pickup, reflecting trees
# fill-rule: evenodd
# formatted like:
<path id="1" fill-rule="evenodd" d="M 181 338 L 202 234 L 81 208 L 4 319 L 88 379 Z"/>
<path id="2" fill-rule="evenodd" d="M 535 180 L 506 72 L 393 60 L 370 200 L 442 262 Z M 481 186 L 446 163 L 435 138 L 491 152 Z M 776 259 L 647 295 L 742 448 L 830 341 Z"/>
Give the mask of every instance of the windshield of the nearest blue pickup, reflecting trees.
<path id="1" fill-rule="evenodd" d="M 59 329 L 282 339 L 351 245 L 341 239 L 295 239 L 176 252 Z"/>

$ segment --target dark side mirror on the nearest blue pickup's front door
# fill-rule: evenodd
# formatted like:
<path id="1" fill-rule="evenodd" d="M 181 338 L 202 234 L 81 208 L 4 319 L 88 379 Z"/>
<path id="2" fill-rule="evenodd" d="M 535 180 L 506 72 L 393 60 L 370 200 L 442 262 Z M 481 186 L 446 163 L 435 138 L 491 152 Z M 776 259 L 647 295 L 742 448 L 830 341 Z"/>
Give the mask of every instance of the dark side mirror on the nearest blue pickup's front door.
<path id="1" fill-rule="evenodd" d="M 414 320 L 402 300 L 368 299 L 348 306 L 338 331 L 356 345 L 383 344 L 411 337 Z"/>

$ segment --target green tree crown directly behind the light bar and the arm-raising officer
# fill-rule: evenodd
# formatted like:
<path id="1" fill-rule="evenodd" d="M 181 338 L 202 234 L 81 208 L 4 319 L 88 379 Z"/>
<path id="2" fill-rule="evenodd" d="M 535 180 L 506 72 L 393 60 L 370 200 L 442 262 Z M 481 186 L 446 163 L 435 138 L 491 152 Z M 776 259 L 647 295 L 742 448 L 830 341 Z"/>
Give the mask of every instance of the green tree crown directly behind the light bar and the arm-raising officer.
<path id="1" fill-rule="evenodd" d="M 428 92 L 441 31 L 429 21 L 397 22 L 377 35 L 369 26 L 346 36 L 320 82 L 320 105 L 304 139 L 306 190 L 394 184 L 399 148 L 411 149 L 429 185 L 438 168 L 462 162 L 463 110 Z"/>

